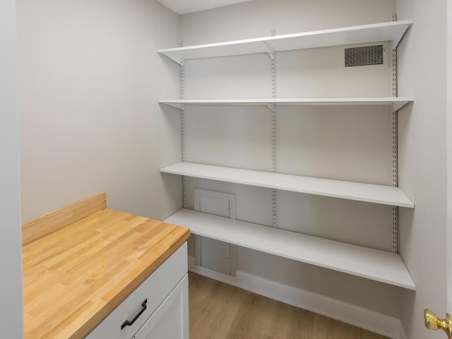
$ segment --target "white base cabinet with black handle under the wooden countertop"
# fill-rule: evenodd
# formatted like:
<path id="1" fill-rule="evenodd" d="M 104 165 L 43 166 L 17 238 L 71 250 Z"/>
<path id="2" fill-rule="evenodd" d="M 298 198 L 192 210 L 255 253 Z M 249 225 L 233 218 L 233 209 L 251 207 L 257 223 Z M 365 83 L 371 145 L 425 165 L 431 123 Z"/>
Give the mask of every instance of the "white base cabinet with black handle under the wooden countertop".
<path id="1" fill-rule="evenodd" d="M 172 321 L 180 335 L 154 338 L 188 338 L 188 280 L 186 243 L 124 299 L 85 339 L 130 339 L 146 323 L 163 331 Z M 167 319 L 167 316 L 174 319 Z M 133 321 L 133 319 L 135 319 Z M 126 323 L 130 321 L 130 325 Z M 154 331 L 154 330 L 153 330 Z M 174 329 L 176 331 L 176 329 Z M 141 337 L 140 337 L 141 338 Z M 147 337 L 143 337 L 147 338 Z"/>

